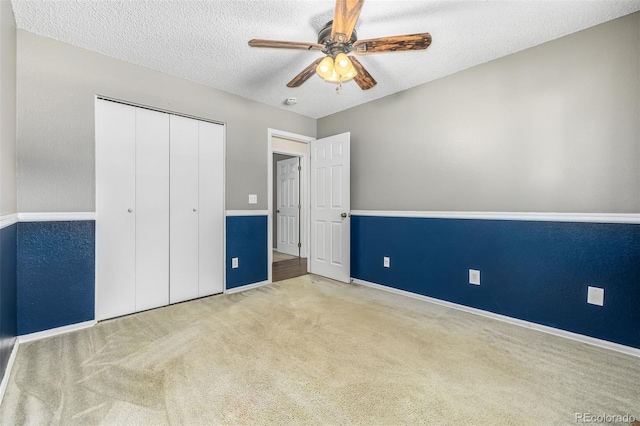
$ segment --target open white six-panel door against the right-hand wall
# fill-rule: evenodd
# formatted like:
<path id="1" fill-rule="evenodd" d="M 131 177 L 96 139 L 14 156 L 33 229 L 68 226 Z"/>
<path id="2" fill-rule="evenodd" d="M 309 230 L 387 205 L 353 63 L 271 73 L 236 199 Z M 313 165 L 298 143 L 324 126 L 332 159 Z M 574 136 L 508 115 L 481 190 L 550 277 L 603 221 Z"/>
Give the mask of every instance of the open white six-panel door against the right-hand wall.
<path id="1" fill-rule="evenodd" d="M 311 142 L 311 273 L 349 282 L 350 134 Z"/>

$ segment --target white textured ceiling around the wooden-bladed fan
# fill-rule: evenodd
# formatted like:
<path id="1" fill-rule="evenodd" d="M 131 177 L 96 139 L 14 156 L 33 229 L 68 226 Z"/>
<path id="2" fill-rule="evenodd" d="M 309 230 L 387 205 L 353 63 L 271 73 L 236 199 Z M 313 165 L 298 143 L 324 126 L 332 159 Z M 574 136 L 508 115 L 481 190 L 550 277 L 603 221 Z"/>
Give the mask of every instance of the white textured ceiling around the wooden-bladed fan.
<path id="1" fill-rule="evenodd" d="M 362 91 L 317 76 L 285 85 L 321 55 L 257 49 L 252 38 L 316 42 L 334 1 L 13 0 L 18 28 L 320 118 L 640 10 L 640 1 L 374 1 L 360 39 L 430 32 L 426 51 L 361 56 Z M 298 104 L 286 106 L 288 97 Z"/>

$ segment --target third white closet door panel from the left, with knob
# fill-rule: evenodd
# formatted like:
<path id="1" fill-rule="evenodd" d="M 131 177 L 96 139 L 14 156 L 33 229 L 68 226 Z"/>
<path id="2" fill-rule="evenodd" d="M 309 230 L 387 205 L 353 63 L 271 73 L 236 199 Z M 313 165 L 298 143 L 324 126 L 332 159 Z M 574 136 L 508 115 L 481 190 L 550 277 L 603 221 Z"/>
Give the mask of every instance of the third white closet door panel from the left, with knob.
<path id="1" fill-rule="evenodd" d="M 198 297 L 198 121 L 170 118 L 170 303 Z"/>

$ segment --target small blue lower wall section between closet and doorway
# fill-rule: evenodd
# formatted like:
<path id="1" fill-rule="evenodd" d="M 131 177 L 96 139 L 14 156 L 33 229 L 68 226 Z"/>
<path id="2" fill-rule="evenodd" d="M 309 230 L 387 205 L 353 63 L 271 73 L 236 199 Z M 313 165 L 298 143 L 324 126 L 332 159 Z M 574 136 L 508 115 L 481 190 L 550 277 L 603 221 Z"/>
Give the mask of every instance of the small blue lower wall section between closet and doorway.
<path id="1" fill-rule="evenodd" d="M 231 268 L 234 257 L 237 269 Z M 266 281 L 267 259 L 267 216 L 227 216 L 227 289 Z"/>

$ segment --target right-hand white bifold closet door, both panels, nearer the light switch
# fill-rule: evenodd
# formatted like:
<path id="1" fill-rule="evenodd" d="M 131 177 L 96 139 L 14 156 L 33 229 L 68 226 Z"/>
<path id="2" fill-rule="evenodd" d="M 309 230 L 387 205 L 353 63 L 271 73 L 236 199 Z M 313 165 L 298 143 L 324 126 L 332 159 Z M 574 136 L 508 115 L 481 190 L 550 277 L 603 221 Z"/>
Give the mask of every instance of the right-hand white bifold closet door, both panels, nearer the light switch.
<path id="1" fill-rule="evenodd" d="M 171 116 L 170 302 L 224 289 L 224 126 Z"/>

